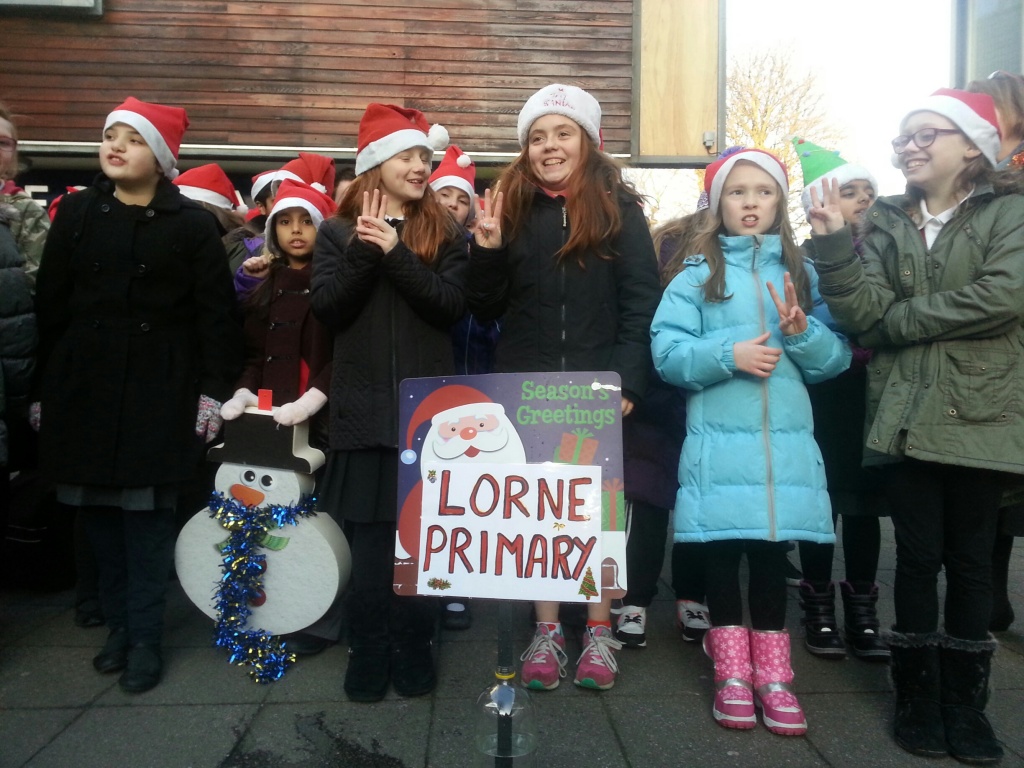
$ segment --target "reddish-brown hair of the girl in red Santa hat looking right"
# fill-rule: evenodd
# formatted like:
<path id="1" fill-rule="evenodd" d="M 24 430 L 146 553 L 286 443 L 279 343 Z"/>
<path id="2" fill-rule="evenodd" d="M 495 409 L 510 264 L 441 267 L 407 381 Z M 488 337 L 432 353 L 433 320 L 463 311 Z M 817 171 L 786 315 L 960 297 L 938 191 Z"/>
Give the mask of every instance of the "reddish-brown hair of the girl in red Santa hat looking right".
<path id="1" fill-rule="evenodd" d="M 425 185 L 426 179 L 424 179 Z M 381 183 L 380 166 L 355 177 L 345 190 L 345 197 L 341 199 L 341 205 L 338 206 L 335 216 L 354 226 L 355 219 L 362 215 L 362 193 L 373 195 L 374 189 L 380 189 L 382 195 L 385 194 L 384 185 Z M 425 264 L 430 264 L 437 258 L 442 245 L 462 237 L 455 219 L 429 189 L 420 200 L 402 205 L 401 212 L 406 217 L 401 242 Z M 352 237 L 355 237 L 354 228 Z"/>

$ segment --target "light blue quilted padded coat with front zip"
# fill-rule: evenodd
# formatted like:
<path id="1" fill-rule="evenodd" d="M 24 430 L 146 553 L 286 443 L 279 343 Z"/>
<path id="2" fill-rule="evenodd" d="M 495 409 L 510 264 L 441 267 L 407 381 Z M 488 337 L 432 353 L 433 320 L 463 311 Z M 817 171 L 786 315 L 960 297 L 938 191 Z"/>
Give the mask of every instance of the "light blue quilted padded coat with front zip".
<path id="1" fill-rule="evenodd" d="M 781 294 L 785 267 L 778 236 L 721 237 L 725 295 L 703 301 L 709 267 L 691 256 L 666 290 L 651 327 L 654 367 L 687 390 L 686 438 L 679 460 L 675 540 L 835 541 L 821 452 L 813 436 L 806 384 L 845 371 L 849 344 L 808 317 L 783 337 L 765 284 Z M 817 279 L 807 262 L 815 304 Z M 738 371 L 732 345 L 771 332 L 784 350 L 767 379 Z"/>

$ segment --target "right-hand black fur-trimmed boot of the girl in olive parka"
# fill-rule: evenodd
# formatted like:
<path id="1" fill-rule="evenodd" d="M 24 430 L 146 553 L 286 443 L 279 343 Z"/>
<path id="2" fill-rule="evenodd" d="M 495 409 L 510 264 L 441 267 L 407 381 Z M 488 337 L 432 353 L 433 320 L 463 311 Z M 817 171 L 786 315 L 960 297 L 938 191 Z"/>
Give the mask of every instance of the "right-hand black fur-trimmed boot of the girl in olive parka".
<path id="1" fill-rule="evenodd" d="M 994 640 L 947 637 L 940 651 L 942 721 L 949 754 L 964 763 L 997 763 L 1002 748 L 985 717 Z"/>

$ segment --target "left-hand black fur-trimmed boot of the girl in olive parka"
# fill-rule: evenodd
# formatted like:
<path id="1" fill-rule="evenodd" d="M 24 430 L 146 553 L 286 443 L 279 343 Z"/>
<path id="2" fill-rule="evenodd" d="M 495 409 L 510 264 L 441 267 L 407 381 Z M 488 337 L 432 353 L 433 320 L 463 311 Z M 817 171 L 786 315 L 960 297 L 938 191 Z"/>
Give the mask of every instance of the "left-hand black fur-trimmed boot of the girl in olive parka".
<path id="1" fill-rule="evenodd" d="M 896 711 L 893 730 L 896 743 L 909 753 L 927 758 L 948 754 L 946 732 L 939 703 L 939 643 L 937 632 L 910 635 L 888 633 Z"/>

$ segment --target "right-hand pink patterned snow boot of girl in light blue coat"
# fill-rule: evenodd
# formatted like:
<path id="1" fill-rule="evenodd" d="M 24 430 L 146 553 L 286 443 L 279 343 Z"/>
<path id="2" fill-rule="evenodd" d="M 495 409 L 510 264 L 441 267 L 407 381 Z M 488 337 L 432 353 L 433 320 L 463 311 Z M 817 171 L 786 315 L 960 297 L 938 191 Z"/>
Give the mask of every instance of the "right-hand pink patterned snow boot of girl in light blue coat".
<path id="1" fill-rule="evenodd" d="M 751 632 L 751 662 L 754 666 L 755 701 L 765 728 L 782 736 L 803 736 L 807 719 L 790 685 L 790 634 Z"/>

